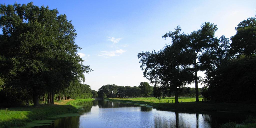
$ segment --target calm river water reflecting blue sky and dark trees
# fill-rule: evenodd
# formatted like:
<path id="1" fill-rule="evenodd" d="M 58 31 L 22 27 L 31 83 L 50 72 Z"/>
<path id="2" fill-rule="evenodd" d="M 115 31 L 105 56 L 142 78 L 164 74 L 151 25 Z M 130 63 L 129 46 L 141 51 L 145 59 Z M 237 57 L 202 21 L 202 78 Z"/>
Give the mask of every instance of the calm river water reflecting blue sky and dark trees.
<path id="1" fill-rule="evenodd" d="M 214 128 L 246 118 L 246 115 L 237 113 L 160 111 L 152 107 L 105 100 L 80 102 L 78 105 L 82 106 L 80 116 L 56 119 L 51 125 L 34 128 Z"/>

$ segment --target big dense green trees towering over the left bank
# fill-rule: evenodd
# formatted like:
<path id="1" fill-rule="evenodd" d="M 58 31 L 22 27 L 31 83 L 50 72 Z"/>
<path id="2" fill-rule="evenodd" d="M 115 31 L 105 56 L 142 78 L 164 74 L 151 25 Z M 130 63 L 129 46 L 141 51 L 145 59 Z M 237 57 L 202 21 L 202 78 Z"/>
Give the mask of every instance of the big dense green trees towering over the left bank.
<path id="1" fill-rule="evenodd" d="M 32 2 L 1 4 L 0 27 L 0 102 L 33 99 L 38 106 L 39 96 L 48 94 L 48 99 L 55 99 L 58 93 L 72 97 L 69 90 L 74 91 L 73 86 L 84 87 L 80 84 L 83 73 L 91 69 L 77 54 L 81 48 L 74 42 L 77 34 L 66 15 Z"/>

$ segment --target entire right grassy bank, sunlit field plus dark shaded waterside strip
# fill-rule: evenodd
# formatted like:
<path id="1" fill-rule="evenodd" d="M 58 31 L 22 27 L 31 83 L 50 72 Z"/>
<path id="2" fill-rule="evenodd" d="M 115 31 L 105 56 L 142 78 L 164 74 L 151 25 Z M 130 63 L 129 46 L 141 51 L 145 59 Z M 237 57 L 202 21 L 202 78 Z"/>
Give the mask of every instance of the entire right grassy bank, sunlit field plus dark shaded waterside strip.
<path id="1" fill-rule="evenodd" d="M 157 101 L 155 98 L 108 98 L 106 100 L 109 101 L 119 101 L 119 102 L 132 102 L 132 103 L 140 103 L 145 105 L 153 106 L 158 110 L 185 110 L 185 111 L 227 111 L 227 112 L 256 112 L 255 105 L 256 104 L 239 104 L 239 103 L 196 103 L 194 97 L 185 97 L 179 98 L 183 102 L 179 104 L 175 104 L 173 98 L 165 98 L 163 100 Z M 165 102 L 164 102 L 165 100 Z"/>

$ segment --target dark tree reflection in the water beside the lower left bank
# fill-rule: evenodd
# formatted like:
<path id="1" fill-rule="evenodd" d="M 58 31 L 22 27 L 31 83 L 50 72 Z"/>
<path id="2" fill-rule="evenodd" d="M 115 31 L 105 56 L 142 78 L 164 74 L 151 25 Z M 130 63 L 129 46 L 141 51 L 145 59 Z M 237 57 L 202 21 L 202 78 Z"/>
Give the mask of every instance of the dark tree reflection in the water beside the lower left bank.
<path id="1" fill-rule="evenodd" d="M 54 121 L 54 124 L 46 126 L 35 126 L 34 128 L 60 128 L 60 127 L 79 127 L 79 116 L 64 117 Z"/>

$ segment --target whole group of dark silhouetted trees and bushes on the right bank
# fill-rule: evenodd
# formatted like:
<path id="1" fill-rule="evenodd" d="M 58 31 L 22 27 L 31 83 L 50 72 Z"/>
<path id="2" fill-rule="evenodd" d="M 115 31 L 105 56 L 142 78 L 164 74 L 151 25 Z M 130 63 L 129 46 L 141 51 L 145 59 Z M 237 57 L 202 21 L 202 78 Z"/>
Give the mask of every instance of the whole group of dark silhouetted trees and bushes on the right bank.
<path id="1" fill-rule="evenodd" d="M 198 81 L 202 80 L 206 84 L 202 90 L 206 100 L 256 101 L 255 17 L 240 22 L 231 44 L 225 36 L 215 37 L 217 29 L 216 25 L 205 22 L 197 31 L 185 34 L 178 26 L 162 36 L 170 37 L 171 44 L 158 52 L 138 53 L 144 77 L 155 84 L 155 97 L 164 97 L 170 89 L 178 103 L 178 88 L 194 82 L 198 102 Z M 206 78 L 200 79 L 197 71 L 205 71 Z"/>

